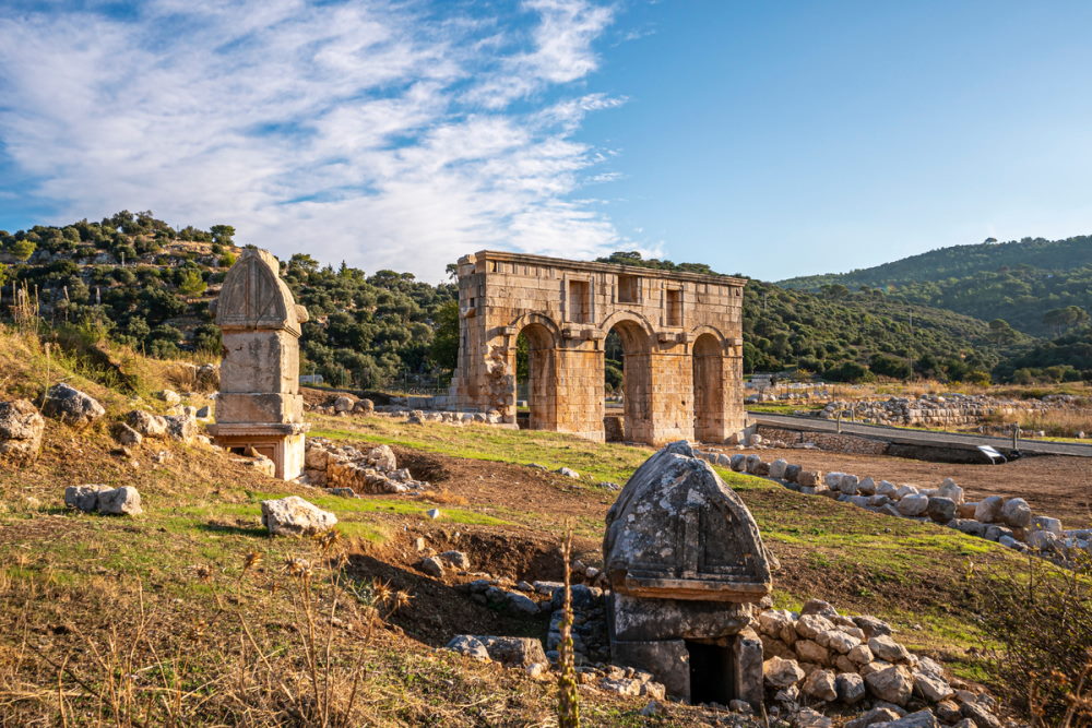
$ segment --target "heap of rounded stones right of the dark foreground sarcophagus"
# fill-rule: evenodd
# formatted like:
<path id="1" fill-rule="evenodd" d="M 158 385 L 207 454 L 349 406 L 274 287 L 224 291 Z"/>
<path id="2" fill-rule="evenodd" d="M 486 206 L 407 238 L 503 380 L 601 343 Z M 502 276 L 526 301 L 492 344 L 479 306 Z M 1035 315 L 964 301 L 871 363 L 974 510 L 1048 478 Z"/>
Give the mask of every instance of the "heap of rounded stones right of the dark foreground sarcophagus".
<path id="1" fill-rule="evenodd" d="M 989 713 L 990 699 L 957 690 L 937 661 L 895 642 L 891 628 L 875 617 L 846 617 L 812 599 L 799 612 L 761 612 L 756 630 L 762 640 L 768 695 L 790 712 L 803 702 L 862 708 L 873 704 L 846 725 L 863 728 L 880 723 L 877 718 L 899 720 L 910 711 L 923 713 L 923 723 L 916 725 L 935 726 L 937 718 L 958 724 L 971 716 L 978 726 L 1000 725 Z"/>

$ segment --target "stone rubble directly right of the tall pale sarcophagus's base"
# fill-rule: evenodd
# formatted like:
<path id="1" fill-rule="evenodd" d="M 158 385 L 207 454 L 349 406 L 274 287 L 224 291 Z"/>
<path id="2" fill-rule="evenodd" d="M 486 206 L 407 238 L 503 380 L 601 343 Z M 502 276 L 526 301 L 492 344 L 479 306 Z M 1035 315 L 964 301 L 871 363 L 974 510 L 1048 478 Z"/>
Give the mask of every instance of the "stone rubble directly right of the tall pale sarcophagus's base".
<path id="1" fill-rule="evenodd" d="M 429 488 L 428 482 L 415 480 L 408 469 L 399 468 L 388 445 L 360 451 L 323 438 L 309 438 L 304 465 L 309 485 L 340 491 L 337 494 L 408 493 Z"/>

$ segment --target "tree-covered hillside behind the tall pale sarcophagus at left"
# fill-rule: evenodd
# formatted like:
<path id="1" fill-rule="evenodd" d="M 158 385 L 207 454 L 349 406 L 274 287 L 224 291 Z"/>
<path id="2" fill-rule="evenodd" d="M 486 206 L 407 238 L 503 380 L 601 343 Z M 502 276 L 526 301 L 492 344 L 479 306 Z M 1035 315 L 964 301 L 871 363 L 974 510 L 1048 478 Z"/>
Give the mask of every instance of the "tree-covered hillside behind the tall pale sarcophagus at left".
<path id="1" fill-rule="evenodd" d="M 175 229 L 151 212 L 122 211 L 98 223 L 0 231 L 0 302 L 25 287 L 46 322 L 78 324 L 146 354 L 219 356 L 209 302 L 239 248 L 235 229 Z M 307 306 L 302 373 L 335 385 L 413 385 L 435 381 L 430 345 L 453 285 L 408 273 L 366 275 L 320 266 L 297 253 L 283 277 Z M 7 306 L 4 308 L 8 308 Z"/>

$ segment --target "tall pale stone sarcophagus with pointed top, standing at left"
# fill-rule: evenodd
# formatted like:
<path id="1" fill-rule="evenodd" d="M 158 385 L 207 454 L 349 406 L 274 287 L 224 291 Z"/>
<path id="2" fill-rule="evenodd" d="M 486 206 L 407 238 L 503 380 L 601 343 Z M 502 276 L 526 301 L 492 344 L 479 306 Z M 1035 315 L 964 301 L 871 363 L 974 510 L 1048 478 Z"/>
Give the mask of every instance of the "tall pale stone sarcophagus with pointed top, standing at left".
<path id="1" fill-rule="evenodd" d="M 268 251 L 247 249 L 227 272 L 216 301 L 224 359 L 216 397 L 216 443 L 273 461 L 277 478 L 304 468 L 304 398 L 299 334 L 307 309 L 297 306 Z"/>

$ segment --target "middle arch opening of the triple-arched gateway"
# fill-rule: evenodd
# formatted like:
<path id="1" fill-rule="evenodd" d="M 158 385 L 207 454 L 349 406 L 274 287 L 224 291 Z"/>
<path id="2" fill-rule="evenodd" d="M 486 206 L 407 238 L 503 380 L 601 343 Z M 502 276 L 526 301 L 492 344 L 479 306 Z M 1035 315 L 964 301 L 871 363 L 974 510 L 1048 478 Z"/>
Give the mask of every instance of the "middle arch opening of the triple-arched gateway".
<path id="1" fill-rule="evenodd" d="M 610 327 L 603 346 L 607 440 L 643 442 L 651 437 L 652 368 L 649 335 L 634 321 Z"/>

